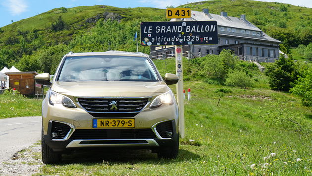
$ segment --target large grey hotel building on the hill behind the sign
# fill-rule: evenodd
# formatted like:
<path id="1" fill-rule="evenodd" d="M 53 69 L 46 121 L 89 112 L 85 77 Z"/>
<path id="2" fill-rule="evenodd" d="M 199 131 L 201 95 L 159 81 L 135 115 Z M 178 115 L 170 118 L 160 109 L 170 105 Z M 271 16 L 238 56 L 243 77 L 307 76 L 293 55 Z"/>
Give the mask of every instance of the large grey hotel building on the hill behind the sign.
<path id="1" fill-rule="evenodd" d="M 219 54 L 223 49 L 230 49 L 241 59 L 257 62 L 275 62 L 279 57 L 279 44 L 276 40 L 255 25 L 246 20 L 245 15 L 240 18 L 227 16 L 227 12 L 220 15 L 210 14 L 208 9 L 202 12 L 191 11 L 191 18 L 182 21 L 217 21 L 218 44 L 213 45 L 185 45 L 183 52 L 190 52 L 189 57 L 201 57 L 208 54 Z M 173 46 L 151 46 L 152 58 L 174 57 Z"/>

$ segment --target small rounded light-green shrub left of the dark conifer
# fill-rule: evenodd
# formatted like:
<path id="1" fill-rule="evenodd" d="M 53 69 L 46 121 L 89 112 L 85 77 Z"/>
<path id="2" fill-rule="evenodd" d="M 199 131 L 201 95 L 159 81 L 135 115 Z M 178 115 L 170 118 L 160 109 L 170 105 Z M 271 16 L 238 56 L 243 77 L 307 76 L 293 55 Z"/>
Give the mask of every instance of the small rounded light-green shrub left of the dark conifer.
<path id="1" fill-rule="evenodd" d="M 232 70 L 228 73 L 225 84 L 246 89 L 253 86 L 253 81 L 244 71 Z"/>

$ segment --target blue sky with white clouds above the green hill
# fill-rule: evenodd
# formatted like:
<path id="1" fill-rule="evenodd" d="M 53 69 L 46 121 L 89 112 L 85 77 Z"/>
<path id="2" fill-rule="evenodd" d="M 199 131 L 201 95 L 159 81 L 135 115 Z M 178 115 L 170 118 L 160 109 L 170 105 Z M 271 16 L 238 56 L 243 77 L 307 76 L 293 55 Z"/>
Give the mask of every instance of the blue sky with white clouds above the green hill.
<path id="1" fill-rule="evenodd" d="M 0 0 L 0 27 L 59 7 L 110 5 L 115 7 L 166 8 L 205 0 Z M 312 8 L 312 0 L 258 0 L 289 3 Z"/>

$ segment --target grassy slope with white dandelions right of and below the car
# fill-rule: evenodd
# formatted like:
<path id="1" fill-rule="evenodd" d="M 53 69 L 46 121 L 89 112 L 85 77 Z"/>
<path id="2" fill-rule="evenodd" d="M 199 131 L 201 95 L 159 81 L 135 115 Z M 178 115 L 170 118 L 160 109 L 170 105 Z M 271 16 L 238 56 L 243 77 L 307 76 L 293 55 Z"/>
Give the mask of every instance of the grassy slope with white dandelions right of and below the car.
<path id="1" fill-rule="evenodd" d="M 171 88 L 175 91 L 175 86 Z M 186 81 L 184 88 L 192 89 L 192 99 L 185 101 L 186 138 L 180 139 L 178 159 L 157 159 L 156 154 L 146 151 L 104 150 L 65 155 L 63 164 L 44 165 L 38 175 L 312 174 L 311 131 L 296 132 L 268 124 L 264 118 L 266 112 L 274 112 L 284 104 L 287 110 L 298 113 L 311 130 L 311 109 L 301 106 L 298 98 L 263 88 L 245 90 L 200 81 Z M 220 88 L 232 92 L 225 93 L 217 106 Z M 297 158 L 301 161 L 297 162 Z M 264 163 L 268 163 L 267 168 Z"/>

